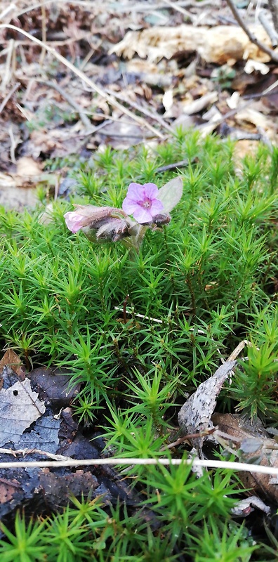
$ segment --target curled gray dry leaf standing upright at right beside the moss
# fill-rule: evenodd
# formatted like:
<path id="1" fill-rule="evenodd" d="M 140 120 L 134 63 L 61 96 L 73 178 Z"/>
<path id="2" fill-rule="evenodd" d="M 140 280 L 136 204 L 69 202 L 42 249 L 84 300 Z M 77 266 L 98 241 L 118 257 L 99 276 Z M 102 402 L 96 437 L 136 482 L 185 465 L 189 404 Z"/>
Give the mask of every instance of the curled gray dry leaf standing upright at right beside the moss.
<path id="1" fill-rule="evenodd" d="M 198 433 L 213 427 L 211 416 L 216 407 L 216 398 L 224 381 L 229 377 L 235 365 L 237 365 L 237 361 L 226 361 L 223 363 L 216 373 L 213 374 L 213 377 L 202 382 L 197 391 L 180 408 L 178 424 L 184 435 L 187 433 Z"/>

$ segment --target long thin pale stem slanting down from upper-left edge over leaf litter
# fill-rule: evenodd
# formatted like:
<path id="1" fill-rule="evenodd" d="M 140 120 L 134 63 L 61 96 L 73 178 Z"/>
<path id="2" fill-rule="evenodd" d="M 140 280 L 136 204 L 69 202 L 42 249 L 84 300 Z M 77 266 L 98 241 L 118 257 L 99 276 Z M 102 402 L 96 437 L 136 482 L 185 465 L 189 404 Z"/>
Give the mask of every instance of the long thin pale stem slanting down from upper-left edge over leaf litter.
<path id="1" fill-rule="evenodd" d="M 131 112 L 130 110 L 127 109 L 127 107 L 124 107 L 124 105 L 121 105 L 121 103 L 119 103 L 114 98 L 114 96 L 111 96 L 111 95 L 107 94 L 100 86 L 95 84 L 95 82 L 93 82 L 93 80 L 88 78 L 86 76 L 86 74 L 84 74 L 84 72 L 82 72 L 81 70 L 79 70 L 79 68 L 72 65 L 72 63 L 70 63 L 69 60 L 67 60 L 65 57 L 60 55 L 60 53 L 58 53 L 58 51 L 55 51 L 55 48 L 50 47 L 48 44 L 44 43 L 43 41 L 40 41 L 39 39 L 37 39 L 37 37 L 32 37 L 32 35 L 30 35 L 29 33 L 27 33 L 24 30 L 20 30 L 20 28 L 16 27 L 15 25 L 1 24 L 0 29 L 14 30 L 18 33 L 21 33 L 22 35 L 25 35 L 25 37 L 27 37 L 27 39 L 29 39 L 29 41 L 33 41 L 33 43 L 36 43 L 41 48 L 45 48 L 48 53 L 53 55 L 53 57 L 55 57 L 57 60 L 59 60 L 60 63 L 65 65 L 67 68 L 69 68 L 69 70 L 71 70 L 81 80 L 83 80 L 85 82 L 85 84 L 87 84 L 87 86 L 89 86 L 93 91 L 98 93 L 99 96 L 102 96 L 102 98 L 105 98 L 107 103 L 110 103 L 110 105 L 112 105 L 113 107 L 117 107 L 117 109 L 119 109 L 122 113 L 128 115 L 128 117 L 131 117 L 131 119 L 133 119 L 133 121 L 140 124 L 140 126 L 143 126 L 146 129 L 149 129 L 149 131 L 151 131 L 154 136 L 157 136 L 157 137 L 164 140 L 165 137 L 160 131 L 158 131 L 157 129 L 154 129 L 154 127 L 152 125 L 150 125 L 145 119 L 143 119 L 143 117 L 139 117 L 138 115 L 134 115 L 133 112 Z"/>

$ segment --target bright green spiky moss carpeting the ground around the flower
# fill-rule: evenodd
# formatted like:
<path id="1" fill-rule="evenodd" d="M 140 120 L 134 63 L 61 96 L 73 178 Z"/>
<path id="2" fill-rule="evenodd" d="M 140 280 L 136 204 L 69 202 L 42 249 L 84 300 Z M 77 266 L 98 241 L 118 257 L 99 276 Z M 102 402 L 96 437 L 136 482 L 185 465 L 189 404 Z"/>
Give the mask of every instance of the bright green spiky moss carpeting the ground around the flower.
<path id="1" fill-rule="evenodd" d="M 187 167 L 157 173 L 159 166 L 184 159 Z M 270 155 L 260 147 L 239 174 L 230 141 L 201 141 L 197 133 L 181 131 L 153 152 L 107 149 L 96 155 L 74 173 L 72 202 L 121 206 L 131 181 L 161 187 L 177 174 L 183 177 L 183 199 L 171 223 L 149 230 L 136 256 L 120 242 L 91 244 L 83 233 L 69 233 L 63 219 L 72 209 L 68 202 L 53 202 L 47 224 L 42 207 L 32 214 L 1 209 L 1 338 L 27 367 L 62 365 L 70 384 L 81 382 L 76 412 L 86 424 L 106 417 L 103 431 L 115 454 L 159 456 L 187 393 L 243 339 L 252 342 L 249 362 L 223 389 L 219 407 L 229 411 L 232 404 L 277 423 L 276 169 L 277 151 Z M 230 516 L 234 483 L 226 483 L 227 474 L 216 471 L 212 485 L 209 476 L 194 480 L 186 467 L 171 471 L 129 471 L 145 486 L 159 531 L 116 510 L 113 532 L 108 519 L 97 530 L 86 523 L 84 544 L 77 541 L 72 559 L 153 561 L 163 551 L 170 561 L 191 549 L 188 556 L 201 561 L 203 532 L 217 559 L 232 560 L 229 549 L 234 560 L 253 559 L 246 531 Z M 186 483 L 196 490 L 194 504 Z M 75 509 L 59 516 L 67 518 L 67 528 L 77 521 L 81 508 Z M 99 518 L 102 508 L 93 509 Z M 48 531 L 55 533 L 58 524 L 62 519 L 53 519 Z M 137 533 L 131 532 L 134 525 Z M 114 538 L 115 528 L 120 538 Z M 46 530 L 41 532 L 44 537 Z M 77 540 L 74 532 L 70 537 Z M 93 542 L 86 551 L 87 540 Z M 57 558 L 59 548 L 54 541 L 47 561 L 64 559 Z M 24 559 L 1 556 L 6 562 Z"/>

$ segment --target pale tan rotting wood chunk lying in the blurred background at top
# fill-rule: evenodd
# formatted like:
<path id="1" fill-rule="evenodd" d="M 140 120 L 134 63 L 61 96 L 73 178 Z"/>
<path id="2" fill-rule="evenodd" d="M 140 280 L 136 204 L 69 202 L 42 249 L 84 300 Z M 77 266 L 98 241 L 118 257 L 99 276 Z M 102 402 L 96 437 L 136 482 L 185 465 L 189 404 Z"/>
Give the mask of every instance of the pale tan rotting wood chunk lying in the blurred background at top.
<path id="1" fill-rule="evenodd" d="M 254 25 L 250 26 L 250 30 L 257 39 L 271 47 L 270 38 L 263 27 Z M 262 63 L 270 60 L 270 56 L 251 43 L 246 33 L 236 25 L 218 25 L 211 29 L 192 25 L 154 26 L 140 32 L 128 31 L 110 53 L 126 58 L 132 58 L 137 53 L 140 58 L 154 62 L 163 57 L 171 58 L 179 51 L 197 51 L 206 63 L 220 65 L 234 64 L 237 60 L 248 58 Z"/>

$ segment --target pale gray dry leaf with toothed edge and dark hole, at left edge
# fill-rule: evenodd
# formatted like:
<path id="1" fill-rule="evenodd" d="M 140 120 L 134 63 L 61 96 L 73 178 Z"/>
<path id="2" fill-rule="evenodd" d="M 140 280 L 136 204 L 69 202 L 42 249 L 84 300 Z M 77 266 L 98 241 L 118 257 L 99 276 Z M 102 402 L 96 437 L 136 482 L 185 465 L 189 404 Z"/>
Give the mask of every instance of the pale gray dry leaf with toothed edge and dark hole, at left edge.
<path id="1" fill-rule="evenodd" d="M 18 381 L 10 388 L 0 391 L 0 446 L 18 443 L 22 432 L 27 429 L 46 407 L 33 392 L 29 379 Z"/>

